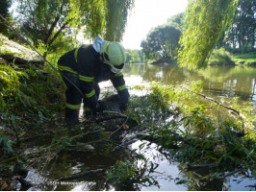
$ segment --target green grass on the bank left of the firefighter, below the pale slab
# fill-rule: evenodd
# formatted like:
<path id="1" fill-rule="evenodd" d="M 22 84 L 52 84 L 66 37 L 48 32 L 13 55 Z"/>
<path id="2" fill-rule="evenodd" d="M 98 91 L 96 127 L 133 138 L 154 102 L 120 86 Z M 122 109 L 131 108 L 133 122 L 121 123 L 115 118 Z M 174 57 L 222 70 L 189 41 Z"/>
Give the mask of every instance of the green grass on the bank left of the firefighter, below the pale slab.
<path id="1" fill-rule="evenodd" d="M 49 69 L 27 65 L 24 69 L 0 63 L 0 155 L 13 153 L 14 140 L 41 128 L 64 106 L 61 78 Z"/>

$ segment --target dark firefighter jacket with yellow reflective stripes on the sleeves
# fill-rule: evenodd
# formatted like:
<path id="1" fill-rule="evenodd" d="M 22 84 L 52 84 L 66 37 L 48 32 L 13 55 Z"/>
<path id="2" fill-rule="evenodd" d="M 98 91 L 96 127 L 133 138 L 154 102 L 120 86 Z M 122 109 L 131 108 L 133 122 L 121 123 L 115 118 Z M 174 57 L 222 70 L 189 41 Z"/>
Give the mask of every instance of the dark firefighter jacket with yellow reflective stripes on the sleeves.
<path id="1" fill-rule="evenodd" d="M 75 48 L 64 54 L 58 61 L 60 71 L 70 72 L 79 78 L 80 88 L 88 99 L 91 109 L 96 109 L 98 98 L 95 94 L 93 84 L 111 80 L 118 92 L 121 105 L 128 105 L 129 92 L 125 85 L 122 72 L 113 73 L 108 64 L 100 60 L 92 45 Z"/>

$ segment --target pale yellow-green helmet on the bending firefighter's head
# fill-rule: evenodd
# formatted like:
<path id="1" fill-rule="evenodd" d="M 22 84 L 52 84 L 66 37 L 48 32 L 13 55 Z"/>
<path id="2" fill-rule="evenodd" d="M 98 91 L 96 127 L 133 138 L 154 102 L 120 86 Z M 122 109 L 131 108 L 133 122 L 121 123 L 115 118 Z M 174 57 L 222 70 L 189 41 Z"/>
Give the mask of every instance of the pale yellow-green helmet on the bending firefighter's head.
<path id="1" fill-rule="evenodd" d="M 104 41 L 100 49 L 101 60 L 111 66 L 114 73 L 119 72 L 125 63 L 126 53 L 123 46 L 115 41 Z"/>

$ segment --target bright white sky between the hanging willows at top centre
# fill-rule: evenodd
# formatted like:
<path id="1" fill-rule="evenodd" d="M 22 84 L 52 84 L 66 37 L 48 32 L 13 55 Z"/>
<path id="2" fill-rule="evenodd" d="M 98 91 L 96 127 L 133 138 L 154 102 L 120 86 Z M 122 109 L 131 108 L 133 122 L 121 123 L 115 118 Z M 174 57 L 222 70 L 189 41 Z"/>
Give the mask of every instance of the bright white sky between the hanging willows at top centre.
<path id="1" fill-rule="evenodd" d="M 136 0 L 123 36 L 126 49 L 141 49 L 141 40 L 151 28 L 166 23 L 170 16 L 185 12 L 187 0 Z"/>

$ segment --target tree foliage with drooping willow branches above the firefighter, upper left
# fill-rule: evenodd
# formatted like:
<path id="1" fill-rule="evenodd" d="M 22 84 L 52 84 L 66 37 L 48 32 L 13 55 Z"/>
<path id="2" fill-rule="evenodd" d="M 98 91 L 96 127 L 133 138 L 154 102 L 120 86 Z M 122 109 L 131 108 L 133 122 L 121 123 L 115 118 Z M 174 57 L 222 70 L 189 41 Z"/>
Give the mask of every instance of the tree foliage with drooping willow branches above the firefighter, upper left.
<path id="1" fill-rule="evenodd" d="M 42 42 L 48 50 L 66 41 L 76 42 L 83 30 L 87 38 L 104 36 L 120 40 L 133 1 L 85 0 L 19 0 L 17 21 L 23 35 L 38 46 Z M 55 43 L 55 45 L 54 45 Z M 57 45 L 56 45 L 57 44 Z M 73 44 L 74 46 L 75 44 Z"/>

